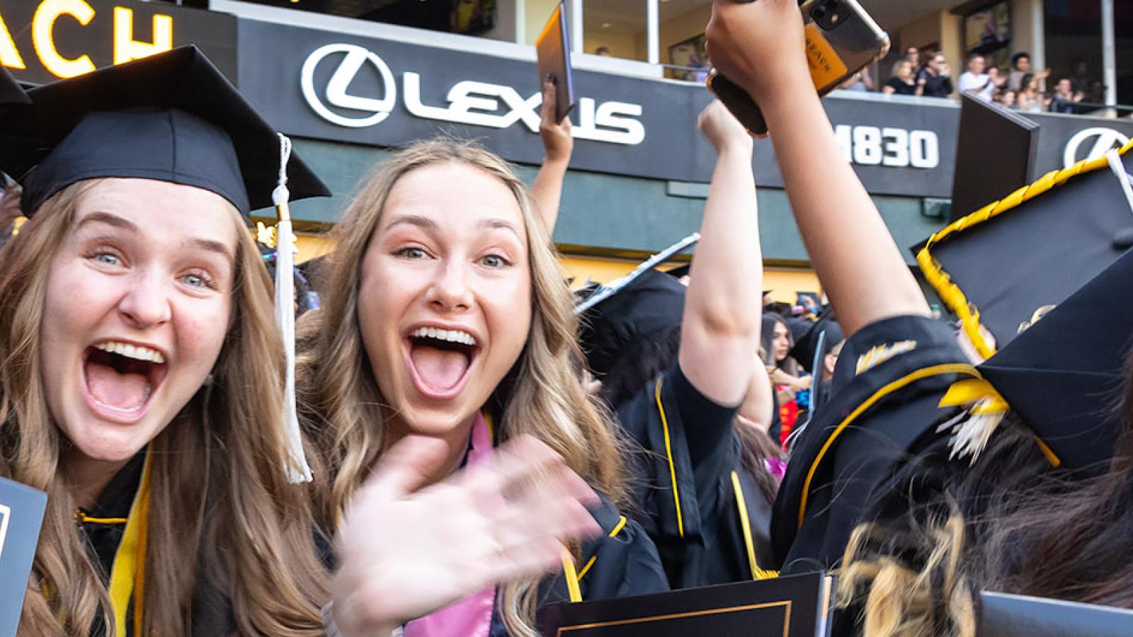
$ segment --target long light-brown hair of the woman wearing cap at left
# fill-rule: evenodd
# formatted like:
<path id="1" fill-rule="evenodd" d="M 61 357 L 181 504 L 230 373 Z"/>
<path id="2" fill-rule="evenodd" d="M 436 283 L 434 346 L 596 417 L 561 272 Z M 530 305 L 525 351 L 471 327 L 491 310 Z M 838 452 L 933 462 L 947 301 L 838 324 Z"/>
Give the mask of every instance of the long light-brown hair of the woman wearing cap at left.
<path id="1" fill-rule="evenodd" d="M 108 635 L 114 630 L 99 567 L 75 528 L 75 499 L 59 470 L 66 440 L 40 365 L 50 264 L 95 182 L 54 195 L 0 249 L 0 475 L 48 493 L 22 636 L 87 637 L 100 615 Z M 283 434 L 272 426 L 281 422 L 283 355 L 271 281 L 235 209 L 232 223 L 233 309 L 214 380 L 150 444 L 144 635 L 187 635 L 198 580 L 230 598 L 240 635 L 322 634 L 326 574 L 309 496 L 288 484 Z"/>

